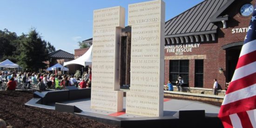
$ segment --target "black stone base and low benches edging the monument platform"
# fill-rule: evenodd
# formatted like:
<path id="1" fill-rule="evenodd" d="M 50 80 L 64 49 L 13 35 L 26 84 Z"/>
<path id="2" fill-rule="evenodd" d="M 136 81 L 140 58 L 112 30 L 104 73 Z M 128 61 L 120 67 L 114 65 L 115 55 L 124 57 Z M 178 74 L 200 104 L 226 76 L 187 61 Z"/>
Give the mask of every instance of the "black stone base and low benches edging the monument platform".
<path id="1" fill-rule="evenodd" d="M 75 105 L 63 102 L 70 102 L 79 99 L 87 99 L 89 101 L 91 88 L 59 90 L 49 92 L 35 92 L 34 98 L 26 103 L 26 105 L 55 109 L 59 112 L 73 113 L 74 115 L 87 117 L 103 123 L 117 125 L 122 128 L 223 128 L 222 122 L 218 117 L 205 116 L 205 110 L 187 110 L 179 111 L 179 118 L 174 116 L 163 117 L 115 117 L 110 115 L 101 115 L 92 112 L 83 111 Z M 55 107 L 47 106 L 54 104 Z M 88 108 L 90 109 L 90 108 Z M 98 110 L 101 111 L 101 110 Z"/>

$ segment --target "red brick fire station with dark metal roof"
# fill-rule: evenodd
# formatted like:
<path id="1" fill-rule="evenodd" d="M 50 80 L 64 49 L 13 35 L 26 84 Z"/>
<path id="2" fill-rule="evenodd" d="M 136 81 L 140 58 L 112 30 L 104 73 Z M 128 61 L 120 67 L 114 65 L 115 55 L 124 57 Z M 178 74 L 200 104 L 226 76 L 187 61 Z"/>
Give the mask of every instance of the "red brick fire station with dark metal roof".
<path id="1" fill-rule="evenodd" d="M 165 83 L 220 89 L 231 81 L 255 0 L 205 0 L 165 24 Z"/>

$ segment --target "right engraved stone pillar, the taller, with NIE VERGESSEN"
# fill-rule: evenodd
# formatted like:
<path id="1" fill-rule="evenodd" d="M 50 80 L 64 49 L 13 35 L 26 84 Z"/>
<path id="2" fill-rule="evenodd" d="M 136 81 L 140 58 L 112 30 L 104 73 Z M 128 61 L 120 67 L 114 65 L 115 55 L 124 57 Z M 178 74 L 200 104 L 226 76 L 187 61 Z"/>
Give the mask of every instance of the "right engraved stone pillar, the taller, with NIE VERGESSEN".
<path id="1" fill-rule="evenodd" d="M 162 0 L 128 6 L 131 37 L 131 82 L 126 113 L 163 115 L 165 3 Z"/>

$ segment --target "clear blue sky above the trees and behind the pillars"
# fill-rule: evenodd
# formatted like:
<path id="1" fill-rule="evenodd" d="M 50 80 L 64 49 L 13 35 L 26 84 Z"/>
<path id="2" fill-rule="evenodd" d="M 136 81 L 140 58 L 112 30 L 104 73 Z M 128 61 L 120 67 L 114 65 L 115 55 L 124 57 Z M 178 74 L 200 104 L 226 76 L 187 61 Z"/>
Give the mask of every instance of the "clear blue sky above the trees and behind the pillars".
<path id="1" fill-rule="evenodd" d="M 35 28 L 56 50 L 74 54 L 78 41 L 92 38 L 93 10 L 124 7 L 127 26 L 128 5 L 150 0 L 0 0 L 0 30 L 18 36 Z M 170 20 L 203 0 L 163 0 L 165 20 Z"/>

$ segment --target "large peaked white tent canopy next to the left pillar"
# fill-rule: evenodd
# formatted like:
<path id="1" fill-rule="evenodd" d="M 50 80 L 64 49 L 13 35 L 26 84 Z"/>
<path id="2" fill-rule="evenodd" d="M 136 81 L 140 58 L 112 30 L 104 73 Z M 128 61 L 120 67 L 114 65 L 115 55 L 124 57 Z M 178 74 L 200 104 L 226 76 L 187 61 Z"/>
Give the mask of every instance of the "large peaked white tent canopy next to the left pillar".
<path id="1" fill-rule="evenodd" d="M 64 62 L 64 66 L 72 65 L 72 64 L 79 64 L 82 66 L 91 65 L 92 58 L 93 58 L 93 50 L 92 49 L 93 49 L 93 46 L 91 46 L 89 48 L 89 50 L 85 54 L 80 56 L 79 58 L 77 58 L 73 61 Z"/>

